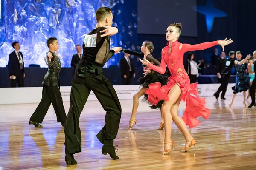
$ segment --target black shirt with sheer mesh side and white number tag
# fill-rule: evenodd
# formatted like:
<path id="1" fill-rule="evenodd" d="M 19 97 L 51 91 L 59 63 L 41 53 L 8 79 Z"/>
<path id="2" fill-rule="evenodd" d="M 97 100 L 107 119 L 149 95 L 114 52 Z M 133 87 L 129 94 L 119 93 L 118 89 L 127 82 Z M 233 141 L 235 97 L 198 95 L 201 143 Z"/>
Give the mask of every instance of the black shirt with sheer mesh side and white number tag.
<path id="1" fill-rule="evenodd" d="M 100 31 L 104 29 L 104 27 L 98 27 L 85 35 L 83 43 L 83 58 L 81 59 L 83 66 L 86 66 L 87 63 L 92 63 L 103 67 L 115 53 L 114 50 L 109 50 L 110 36 L 100 37 L 104 34 Z"/>

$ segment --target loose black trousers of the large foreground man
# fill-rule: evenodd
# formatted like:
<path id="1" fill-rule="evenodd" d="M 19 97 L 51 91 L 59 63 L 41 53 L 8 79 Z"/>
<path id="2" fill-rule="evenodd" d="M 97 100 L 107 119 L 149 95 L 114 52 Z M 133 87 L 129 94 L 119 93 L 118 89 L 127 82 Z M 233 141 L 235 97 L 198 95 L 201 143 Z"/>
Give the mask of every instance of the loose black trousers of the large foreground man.
<path id="1" fill-rule="evenodd" d="M 95 70 L 97 70 L 97 73 L 92 73 Z M 116 138 L 119 129 L 121 105 L 113 85 L 105 77 L 102 68 L 93 65 L 89 71 L 84 69 L 83 73 L 79 72 L 78 76 L 78 71 L 76 70 L 71 85 L 70 109 L 64 126 L 66 154 L 81 152 L 82 139 L 79 117 L 90 91 L 93 91 L 106 111 L 105 126 L 96 135 L 99 141 L 102 144 L 113 146 L 113 139 Z"/>

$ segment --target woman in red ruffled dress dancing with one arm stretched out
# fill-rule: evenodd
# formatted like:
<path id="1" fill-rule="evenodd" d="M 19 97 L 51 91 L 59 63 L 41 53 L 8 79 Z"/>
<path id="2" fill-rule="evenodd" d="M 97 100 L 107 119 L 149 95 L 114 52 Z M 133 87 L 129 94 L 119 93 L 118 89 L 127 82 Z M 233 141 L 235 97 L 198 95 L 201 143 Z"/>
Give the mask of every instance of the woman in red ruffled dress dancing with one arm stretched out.
<path id="1" fill-rule="evenodd" d="M 154 71 L 163 74 L 166 71 L 166 65 L 171 72 L 171 77 L 167 85 L 161 87 L 160 83 L 152 83 L 149 88 L 145 89 L 145 94 L 148 94 L 148 102 L 156 105 L 160 100 L 164 99 L 162 106 L 163 119 L 165 123 L 165 139 L 163 154 L 167 155 L 173 148 L 172 120 L 182 132 L 186 139 L 185 148 L 181 152 L 189 151 L 189 148 L 194 145 L 195 139 L 189 133 L 186 125 L 190 128 L 197 126 L 200 122 L 196 119 L 198 116 L 207 119 L 210 115 L 209 108 L 205 108 L 205 99 L 200 98 L 197 92 L 198 83 L 189 84 L 188 74 L 183 67 L 183 55 L 187 51 L 204 50 L 215 45 L 221 45 L 224 51 L 224 46 L 233 41 L 218 40 L 214 42 L 205 42 L 197 45 L 182 44 L 178 42 L 181 33 L 181 24 L 173 23 L 166 30 L 166 40 L 169 41 L 167 46 L 162 49 L 162 60 L 160 67 L 152 65 L 147 59 L 140 61 L 148 65 Z M 180 101 L 186 101 L 186 110 L 182 119 L 178 115 L 178 107 Z"/>

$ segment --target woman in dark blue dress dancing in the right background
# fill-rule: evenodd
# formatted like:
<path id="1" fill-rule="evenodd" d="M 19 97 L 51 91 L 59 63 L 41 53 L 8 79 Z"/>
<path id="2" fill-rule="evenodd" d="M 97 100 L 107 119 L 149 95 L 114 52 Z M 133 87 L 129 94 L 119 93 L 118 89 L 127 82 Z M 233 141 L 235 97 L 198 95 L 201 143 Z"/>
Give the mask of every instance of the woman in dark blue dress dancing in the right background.
<path id="1" fill-rule="evenodd" d="M 242 59 L 241 52 L 236 51 L 236 58 L 237 58 L 237 60 L 235 61 L 236 85 L 232 87 L 233 96 L 229 104 L 230 107 L 232 106 L 234 99 L 236 97 L 236 94 L 238 92 L 243 92 L 243 96 L 244 96 L 243 103 L 244 103 L 244 106 L 246 106 L 246 103 L 245 103 L 246 91 L 250 88 L 250 77 L 245 73 L 245 65 L 244 65 L 244 63 L 248 63 L 248 59 L 250 59 L 250 55 L 247 55 L 245 59 L 241 60 Z"/>

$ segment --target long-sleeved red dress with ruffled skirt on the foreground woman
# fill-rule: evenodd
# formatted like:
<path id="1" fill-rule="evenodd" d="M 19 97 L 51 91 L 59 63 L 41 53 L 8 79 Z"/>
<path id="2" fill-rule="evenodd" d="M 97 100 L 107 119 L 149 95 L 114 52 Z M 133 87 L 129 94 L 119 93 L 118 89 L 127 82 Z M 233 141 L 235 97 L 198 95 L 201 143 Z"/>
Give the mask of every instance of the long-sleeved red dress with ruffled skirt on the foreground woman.
<path id="1" fill-rule="evenodd" d="M 148 66 L 161 74 L 166 71 L 166 65 L 171 72 L 171 77 L 167 85 L 161 87 L 161 83 L 151 83 L 149 88 L 145 89 L 145 94 L 148 94 L 148 102 L 152 105 L 157 105 L 160 100 L 170 101 L 168 93 L 172 86 L 177 83 L 181 89 L 181 101 L 186 101 L 186 109 L 182 116 L 182 119 L 189 125 L 189 128 L 196 127 L 200 124 L 200 121 L 196 119 L 198 116 L 202 116 L 207 119 L 210 116 L 209 108 L 205 108 L 205 99 L 198 96 L 197 85 L 198 83 L 190 84 L 190 79 L 183 67 L 183 56 L 187 51 L 204 50 L 210 47 L 218 45 L 218 41 L 205 42 L 196 45 L 181 44 L 178 41 L 172 43 L 172 48 L 169 51 L 169 42 L 167 46 L 162 50 L 162 60 L 160 67 L 149 64 Z M 180 48 L 181 47 L 181 48 Z"/>

